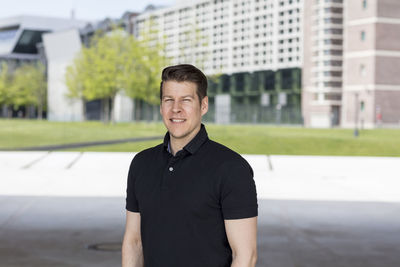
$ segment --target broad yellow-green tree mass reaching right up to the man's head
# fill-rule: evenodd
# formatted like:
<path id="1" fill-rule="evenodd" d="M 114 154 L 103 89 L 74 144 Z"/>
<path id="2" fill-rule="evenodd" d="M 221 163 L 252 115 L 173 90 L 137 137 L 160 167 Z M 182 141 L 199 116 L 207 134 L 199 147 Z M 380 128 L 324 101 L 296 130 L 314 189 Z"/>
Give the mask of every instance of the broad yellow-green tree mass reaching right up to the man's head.
<path id="1" fill-rule="evenodd" d="M 162 52 L 160 44 L 150 46 L 148 39 L 138 40 L 117 28 L 97 34 L 67 68 L 68 96 L 85 101 L 102 99 L 106 121 L 109 113 L 114 121 L 113 104 L 119 92 L 157 103 L 158 80 L 166 64 Z"/>

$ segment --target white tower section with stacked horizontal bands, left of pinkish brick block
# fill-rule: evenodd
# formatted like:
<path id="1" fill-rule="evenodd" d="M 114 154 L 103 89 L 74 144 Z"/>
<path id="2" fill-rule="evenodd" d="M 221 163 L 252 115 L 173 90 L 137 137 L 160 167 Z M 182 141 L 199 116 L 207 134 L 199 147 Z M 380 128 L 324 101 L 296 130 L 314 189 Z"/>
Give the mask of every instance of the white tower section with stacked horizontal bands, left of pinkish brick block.
<path id="1" fill-rule="evenodd" d="M 311 127 L 340 124 L 343 0 L 304 0 L 302 110 Z"/>

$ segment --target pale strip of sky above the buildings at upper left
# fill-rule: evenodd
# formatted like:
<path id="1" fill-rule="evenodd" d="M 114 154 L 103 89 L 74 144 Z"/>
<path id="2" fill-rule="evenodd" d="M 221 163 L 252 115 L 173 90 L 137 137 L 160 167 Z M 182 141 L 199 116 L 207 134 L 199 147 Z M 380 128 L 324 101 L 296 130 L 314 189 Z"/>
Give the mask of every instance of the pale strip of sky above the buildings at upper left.
<path id="1" fill-rule="evenodd" d="M 0 19 L 39 15 L 79 20 L 120 18 L 125 11 L 142 12 L 149 5 L 171 5 L 175 0 L 0 0 Z"/>

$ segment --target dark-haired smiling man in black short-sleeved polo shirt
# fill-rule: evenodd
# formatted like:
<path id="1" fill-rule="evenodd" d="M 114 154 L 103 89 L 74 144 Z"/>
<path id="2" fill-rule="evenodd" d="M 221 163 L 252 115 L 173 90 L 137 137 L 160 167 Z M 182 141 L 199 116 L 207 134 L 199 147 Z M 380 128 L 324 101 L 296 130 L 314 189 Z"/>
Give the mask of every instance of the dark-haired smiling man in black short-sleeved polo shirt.
<path id="1" fill-rule="evenodd" d="M 192 65 L 162 72 L 164 143 L 130 165 L 123 267 L 250 267 L 257 196 L 250 165 L 208 139 L 207 78 Z"/>

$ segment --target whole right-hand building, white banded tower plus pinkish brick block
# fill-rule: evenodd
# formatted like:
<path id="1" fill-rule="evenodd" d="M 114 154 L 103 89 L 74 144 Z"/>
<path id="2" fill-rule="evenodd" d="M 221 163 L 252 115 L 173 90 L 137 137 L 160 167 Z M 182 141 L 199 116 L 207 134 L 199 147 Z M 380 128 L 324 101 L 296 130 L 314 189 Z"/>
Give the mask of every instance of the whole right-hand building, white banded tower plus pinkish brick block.
<path id="1" fill-rule="evenodd" d="M 304 0 L 304 124 L 398 127 L 399 44 L 397 0 Z"/>

